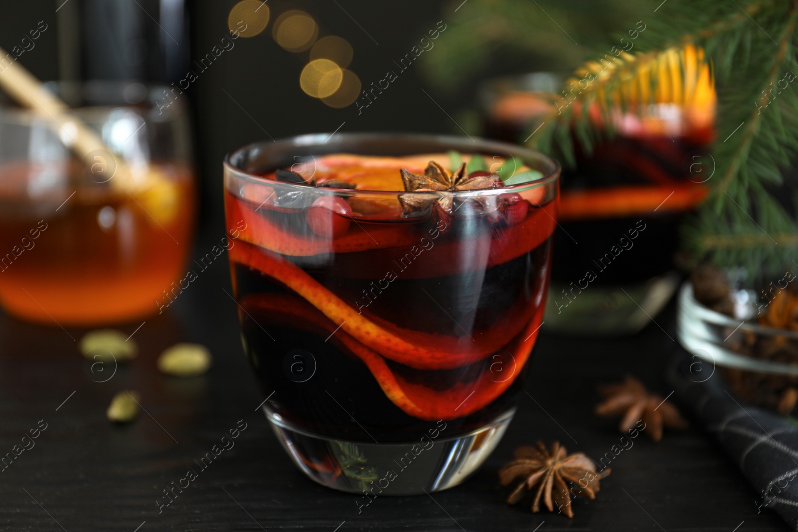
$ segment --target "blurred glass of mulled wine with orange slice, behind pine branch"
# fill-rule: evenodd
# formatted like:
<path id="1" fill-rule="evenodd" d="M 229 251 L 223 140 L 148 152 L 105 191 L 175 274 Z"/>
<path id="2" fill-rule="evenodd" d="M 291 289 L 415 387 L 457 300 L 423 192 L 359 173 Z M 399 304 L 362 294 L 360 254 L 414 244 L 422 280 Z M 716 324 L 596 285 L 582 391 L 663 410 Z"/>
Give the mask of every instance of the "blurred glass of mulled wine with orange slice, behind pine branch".
<path id="1" fill-rule="evenodd" d="M 612 138 L 588 152 L 570 133 L 575 166 L 563 164 L 545 315 L 549 329 L 635 333 L 678 286 L 680 225 L 705 198 L 704 183 L 715 167 L 708 148 L 717 97 L 702 51 L 674 54 L 681 54 L 674 57 L 675 69 L 661 76 L 653 94 L 648 79 L 623 85 L 624 100 L 611 113 Z M 558 115 L 553 100 L 579 105 L 580 91 L 572 86 L 578 83 L 557 93 L 563 77 L 552 73 L 489 81 L 480 92 L 484 136 L 529 143 Z M 588 111 L 604 129 L 598 109 Z M 565 161 L 560 153 L 552 155 Z"/>

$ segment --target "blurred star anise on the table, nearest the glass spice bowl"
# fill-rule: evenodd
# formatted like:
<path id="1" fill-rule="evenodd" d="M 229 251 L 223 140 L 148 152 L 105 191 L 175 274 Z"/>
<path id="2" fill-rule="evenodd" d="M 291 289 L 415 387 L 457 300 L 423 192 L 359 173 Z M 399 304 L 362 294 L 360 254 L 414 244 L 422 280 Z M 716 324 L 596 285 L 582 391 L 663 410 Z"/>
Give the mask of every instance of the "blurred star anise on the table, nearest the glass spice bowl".
<path id="1" fill-rule="evenodd" d="M 687 422 L 678 409 L 661 396 L 649 392 L 642 382 L 627 375 L 626 380 L 617 384 L 605 384 L 599 388 L 604 402 L 597 404 L 599 416 L 623 416 L 618 430 L 630 431 L 639 420 L 646 424 L 650 439 L 662 439 L 662 427 L 686 428 Z"/>

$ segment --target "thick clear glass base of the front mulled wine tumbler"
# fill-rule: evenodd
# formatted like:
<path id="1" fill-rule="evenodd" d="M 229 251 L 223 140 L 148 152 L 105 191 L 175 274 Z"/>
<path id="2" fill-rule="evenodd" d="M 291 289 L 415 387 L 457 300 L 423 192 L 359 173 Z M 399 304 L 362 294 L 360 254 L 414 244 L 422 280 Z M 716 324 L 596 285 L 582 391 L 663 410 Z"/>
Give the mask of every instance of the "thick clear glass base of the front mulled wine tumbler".
<path id="1" fill-rule="evenodd" d="M 295 428 L 263 407 L 294 463 L 326 487 L 363 496 L 423 495 L 457 486 L 488 458 L 507 430 L 515 409 L 491 424 L 444 438 L 445 422 L 408 443 L 364 443 L 332 439 Z"/>

